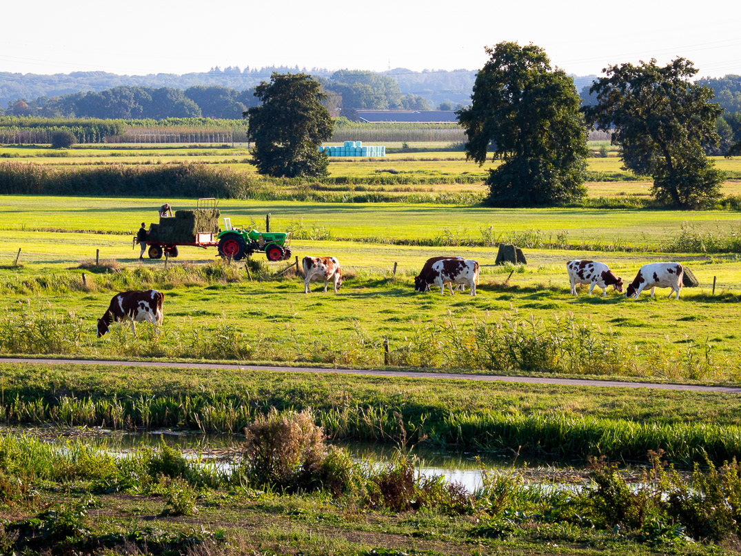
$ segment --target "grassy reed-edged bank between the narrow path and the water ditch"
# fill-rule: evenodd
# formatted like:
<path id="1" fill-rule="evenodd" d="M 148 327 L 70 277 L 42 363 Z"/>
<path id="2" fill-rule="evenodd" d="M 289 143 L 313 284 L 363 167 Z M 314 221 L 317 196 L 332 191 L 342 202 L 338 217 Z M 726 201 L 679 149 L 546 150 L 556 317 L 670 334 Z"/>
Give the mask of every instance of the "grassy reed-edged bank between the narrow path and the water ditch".
<path id="1" fill-rule="evenodd" d="M 311 408 L 336 439 L 566 461 L 741 457 L 741 413 L 722 393 L 71 364 L 1 365 L 0 383 L 6 423 L 237 432 L 270 408 Z"/>

